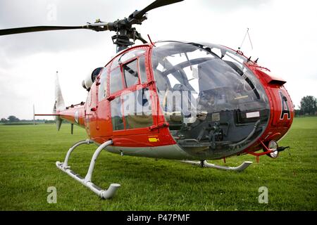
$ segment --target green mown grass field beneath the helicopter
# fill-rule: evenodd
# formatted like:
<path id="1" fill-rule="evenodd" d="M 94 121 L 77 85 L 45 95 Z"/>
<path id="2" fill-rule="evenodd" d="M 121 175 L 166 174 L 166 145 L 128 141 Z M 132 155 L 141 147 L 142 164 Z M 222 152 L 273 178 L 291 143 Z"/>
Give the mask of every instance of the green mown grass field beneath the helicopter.
<path id="1" fill-rule="evenodd" d="M 276 160 L 263 156 L 228 158 L 227 165 L 254 162 L 243 173 L 225 172 L 154 160 L 99 156 L 92 180 L 101 188 L 121 184 L 111 200 L 101 200 L 58 170 L 73 143 L 86 139 L 85 130 L 63 124 L 0 126 L 0 210 L 317 210 L 317 117 L 296 118 L 280 141 L 291 146 Z M 95 150 L 80 146 L 70 158 L 84 176 Z M 216 163 L 223 165 L 222 161 Z M 46 202 L 47 188 L 57 189 L 57 203 Z M 259 187 L 268 188 L 268 204 L 259 204 Z"/>

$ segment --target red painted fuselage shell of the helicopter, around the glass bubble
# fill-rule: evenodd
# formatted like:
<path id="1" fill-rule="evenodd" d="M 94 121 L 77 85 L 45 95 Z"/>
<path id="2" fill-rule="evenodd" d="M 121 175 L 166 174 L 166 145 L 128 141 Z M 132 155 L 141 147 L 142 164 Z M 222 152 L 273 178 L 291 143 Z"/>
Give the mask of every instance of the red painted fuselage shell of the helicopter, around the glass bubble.
<path id="1" fill-rule="evenodd" d="M 89 139 L 92 139 L 95 143 L 101 144 L 111 139 L 113 146 L 111 146 L 109 151 L 113 153 L 179 160 L 218 159 L 231 155 L 255 152 L 263 148 L 261 141 L 266 144 L 271 140 L 278 141 L 287 133 L 288 129 L 290 129 L 294 117 L 294 108 L 290 95 L 283 86 L 285 81 L 272 75 L 270 70 L 247 60 L 242 53 L 235 52 L 240 58 L 245 58 L 243 66 L 251 71 L 254 78 L 261 83 L 261 88 L 265 91 L 266 98 L 268 99 L 267 120 L 263 122 L 265 125 L 262 126 L 261 132 L 259 131 L 259 136 L 256 136 L 254 140 L 247 141 L 246 146 L 239 150 L 219 150 L 215 147 L 214 151 L 218 151 L 215 155 L 199 156 L 189 153 L 178 143 L 178 138 L 175 137 L 175 135 L 173 136 L 170 122 L 166 120 L 162 110 L 160 102 L 162 100 L 159 98 L 159 87 L 154 75 L 152 63 L 152 51 L 154 48 L 156 47 L 151 44 L 145 44 L 133 46 L 130 49 L 118 53 L 117 56 L 106 64 L 97 79 L 94 80 L 85 104 L 73 105 L 66 108 L 66 110 L 56 113 L 60 115 L 62 120 L 68 120 L 73 124 L 85 128 Z M 221 48 L 226 49 L 223 46 Z M 227 50 L 234 52 L 228 48 Z M 143 65 L 140 64 L 141 60 Z M 133 61 L 139 62 L 137 64 L 137 74 L 139 77 L 137 77 L 137 82 L 128 86 L 125 80 L 127 79 L 125 77 L 125 65 L 130 65 L 129 63 Z M 143 77 L 141 70 L 143 70 Z M 111 73 L 115 71 L 117 71 L 117 73 L 119 71 L 116 79 L 120 79 L 122 89 L 111 92 L 111 89 L 113 89 L 112 86 L 114 85 L 111 84 L 113 80 L 110 81 L 110 79 L 113 79 L 111 78 Z M 133 122 L 131 122 L 131 118 L 123 112 L 125 108 L 122 105 L 122 96 L 126 92 L 133 93 L 144 89 L 150 93 L 151 122 L 144 122 L 143 117 L 137 117 L 137 119 L 133 119 Z M 101 91 L 103 91 L 103 93 L 101 93 Z M 122 113 L 122 116 L 113 120 L 113 112 L 116 110 Z M 225 110 L 222 110 L 220 112 L 224 111 Z M 249 114 L 247 113 L 247 115 L 251 115 L 251 117 L 254 115 L 256 117 L 256 113 L 259 112 L 254 111 Z M 220 115 L 222 114 L 220 113 Z M 147 118 L 147 120 L 149 120 L 149 118 Z M 113 122 L 118 122 L 116 128 Z M 252 129 L 252 126 L 250 129 Z M 226 135 L 223 134 L 222 136 Z M 214 143 L 217 144 L 218 142 L 214 141 Z M 211 147 L 209 146 L 209 148 Z"/>

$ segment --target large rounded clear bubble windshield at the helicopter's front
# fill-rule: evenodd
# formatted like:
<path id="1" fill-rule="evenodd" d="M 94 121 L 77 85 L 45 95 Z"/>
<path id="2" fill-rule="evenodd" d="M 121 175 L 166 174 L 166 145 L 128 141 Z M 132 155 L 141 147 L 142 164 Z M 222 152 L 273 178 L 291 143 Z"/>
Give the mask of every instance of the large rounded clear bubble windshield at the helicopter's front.
<path id="1" fill-rule="evenodd" d="M 244 67 L 244 59 L 227 50 L 171 41 L 153 49 L 161 111 L 184 148 L 189 140 L 198 146 L 204 143 L 200 153 L 219 146 L 241 148 L 261 133 L 260 128 L 254 131 L 255 124 L 261 127 L 268 122 L 263 87 Z"/>

